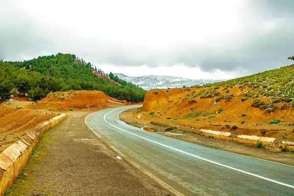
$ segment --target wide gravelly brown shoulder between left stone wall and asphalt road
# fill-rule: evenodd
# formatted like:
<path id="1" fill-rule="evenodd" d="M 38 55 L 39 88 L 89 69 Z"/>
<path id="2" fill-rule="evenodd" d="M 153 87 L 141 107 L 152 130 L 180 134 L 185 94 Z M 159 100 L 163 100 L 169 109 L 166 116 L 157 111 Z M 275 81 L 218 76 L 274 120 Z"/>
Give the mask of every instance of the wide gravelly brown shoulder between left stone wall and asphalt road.
<path id="1" fill-rule="evenodd" d="M 84 124 L 91 112 L 71 112 L 45 132 L 7 195 L 172 195 L 144 173 L 116 158 Z"/>

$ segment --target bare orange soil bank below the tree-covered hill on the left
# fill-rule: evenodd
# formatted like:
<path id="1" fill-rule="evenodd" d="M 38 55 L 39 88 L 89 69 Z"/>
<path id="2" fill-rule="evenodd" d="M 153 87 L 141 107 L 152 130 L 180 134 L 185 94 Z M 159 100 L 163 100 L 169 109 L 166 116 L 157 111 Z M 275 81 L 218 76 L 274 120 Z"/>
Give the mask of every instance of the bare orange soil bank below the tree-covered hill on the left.
<path id="1" fill-rule="evenodd" d="M 43 123 L 60 113 L 122 105 L 122 103 L 110 102 L 106 98 L 121 102 L 121 100 L 105 96 L 100 91 L 51 93 L 38 102 L 27 100 L 4 102 L 0 104 L 0 151 L 21 139 L 37 124 Z M 90 105 L 89 109 L 87 105 Z"/>

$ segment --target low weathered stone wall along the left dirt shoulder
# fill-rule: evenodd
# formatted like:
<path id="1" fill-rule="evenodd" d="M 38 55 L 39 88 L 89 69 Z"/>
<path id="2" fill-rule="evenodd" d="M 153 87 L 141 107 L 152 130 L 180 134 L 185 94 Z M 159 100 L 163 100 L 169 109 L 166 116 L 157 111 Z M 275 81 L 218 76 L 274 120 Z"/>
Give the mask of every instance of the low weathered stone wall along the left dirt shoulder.
<path id="1" fill-rule="evenodd" d="M 13 181 L 27 164 L 32 149 L 36 147 L 42 134 L 60 123 L 66 118 L 66 114 L 58 115 L 44 123 L 38 124 L 25 137 L 7 147 L 0 153 L 0 196 L 12 186 Z"/>

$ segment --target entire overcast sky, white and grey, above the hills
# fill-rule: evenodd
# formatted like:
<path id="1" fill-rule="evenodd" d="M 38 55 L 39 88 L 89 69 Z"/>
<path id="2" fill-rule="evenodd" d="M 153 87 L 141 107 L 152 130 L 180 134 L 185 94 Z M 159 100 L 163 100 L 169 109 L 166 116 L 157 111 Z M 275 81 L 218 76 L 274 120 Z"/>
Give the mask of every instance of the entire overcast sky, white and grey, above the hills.
<path id="1" fill-rule="evenodd" d="M 1 0 L 0 59 L 228 79 L 292 64 L 294 0 Z"/>

